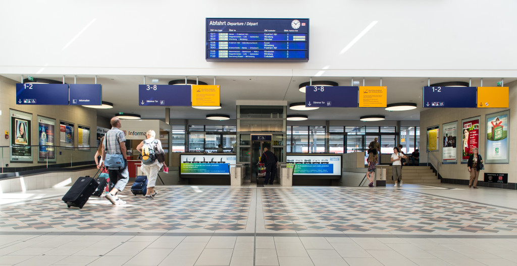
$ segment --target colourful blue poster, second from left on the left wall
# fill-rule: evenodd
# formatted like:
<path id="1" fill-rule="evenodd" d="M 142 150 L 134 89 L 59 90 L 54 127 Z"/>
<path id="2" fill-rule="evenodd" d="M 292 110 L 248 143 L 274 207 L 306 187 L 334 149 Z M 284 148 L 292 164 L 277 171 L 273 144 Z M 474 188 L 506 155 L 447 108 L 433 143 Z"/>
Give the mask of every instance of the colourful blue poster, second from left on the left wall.
<path id="1" fill-rule="evenodd" d="M 38 116 L 38 162 L 56 162 L 55 153 L 56 120 Z M 47 146 L 48 145 L 48 146 Z"/>

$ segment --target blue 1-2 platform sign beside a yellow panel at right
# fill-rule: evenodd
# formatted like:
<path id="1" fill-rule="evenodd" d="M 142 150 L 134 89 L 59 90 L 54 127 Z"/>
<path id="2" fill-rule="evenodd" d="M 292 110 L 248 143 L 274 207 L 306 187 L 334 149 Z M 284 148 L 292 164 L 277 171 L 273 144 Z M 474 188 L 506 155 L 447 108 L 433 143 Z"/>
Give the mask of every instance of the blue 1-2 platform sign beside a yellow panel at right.
<path id="1" fill-rule="evenodd" d="M 423 87 L 424 108 L 476 108 L 477 87 Z"/>

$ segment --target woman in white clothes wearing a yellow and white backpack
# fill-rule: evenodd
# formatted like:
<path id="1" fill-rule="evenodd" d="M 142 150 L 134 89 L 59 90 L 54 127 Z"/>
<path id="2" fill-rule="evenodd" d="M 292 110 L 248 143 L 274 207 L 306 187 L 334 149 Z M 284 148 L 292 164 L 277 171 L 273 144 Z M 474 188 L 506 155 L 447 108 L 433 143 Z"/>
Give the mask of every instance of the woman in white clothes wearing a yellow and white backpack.
<path id="1" fill-rule="evenodd" d="M 142 142 L 138 146 L 136 146 L 136 149 L 138 151 L 142 152 L 142 147 L 146 145 L 151 149 L 154 149 L 156 153 L 165 153 L 161 146 L 160 140 L 155 139 L 156 133 L 154 130 L 148 130 L 145 133 L 145 136 L 147 137 L 147 139 L 142 140 Z M 155 192 L 156 179 L 158 178 L 158 171 L 161 169 L 163 165 L 167 166 L 165 165 L 165 162 L 158 162 L 158 159 L 156 159 L 151 164 L 142 164 L 142 167 L 140 169 L 147 176 L 147 193 L 145 195 L 146 199 L 153 199 L 158 194 L 158 192 Z"/>

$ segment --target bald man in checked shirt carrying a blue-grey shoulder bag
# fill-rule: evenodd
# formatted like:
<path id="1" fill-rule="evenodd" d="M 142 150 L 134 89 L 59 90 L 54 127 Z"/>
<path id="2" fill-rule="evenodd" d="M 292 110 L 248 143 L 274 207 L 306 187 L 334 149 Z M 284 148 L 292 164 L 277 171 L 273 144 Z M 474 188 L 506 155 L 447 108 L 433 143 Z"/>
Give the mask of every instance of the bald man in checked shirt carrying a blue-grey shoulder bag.
<path id="1" fill-rule="evenodd" d="M 106 159 L 106 153 L 108 154 L 121 154 L 124 157 L 124 168 L 120 169 L 119 167 L 113 167 L 110 169 L 108 166 L 108 174 L 110 175 L 110 187 L 112 188 L 110 192 L 106 193 L 106 198 L 111 201 L 113 205 L 121 205 L 126 204 L 126 201 L 118 198 L 117 193 L 119 191 L 123 191 L 124 187 L 129 180 L 129 172 L 128 172 L 128 164 L 126 160 L 126 136 L 124 135 L 124 131 L 121 131 L 120 128 L 122 125 L 120 124 L 120 119 L 118 117 L 113 117 L 110 120 L 111 129 L 106 132 L 104 136 L 104 145 L 102 147 L 102 166 L 104 166 L 104 160 Z"/>

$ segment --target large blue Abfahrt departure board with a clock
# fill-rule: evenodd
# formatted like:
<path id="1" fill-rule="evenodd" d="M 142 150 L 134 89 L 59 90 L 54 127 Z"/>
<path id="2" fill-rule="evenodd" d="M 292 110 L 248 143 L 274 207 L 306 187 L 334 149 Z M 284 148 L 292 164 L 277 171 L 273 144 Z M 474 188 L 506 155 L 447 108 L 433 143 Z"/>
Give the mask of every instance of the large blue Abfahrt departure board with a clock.
<path id="1" fill-rule="evenodd" d="M 207 61 L 309 60 L 309 19 L 206 19 Z"/>

